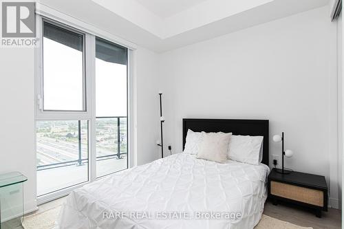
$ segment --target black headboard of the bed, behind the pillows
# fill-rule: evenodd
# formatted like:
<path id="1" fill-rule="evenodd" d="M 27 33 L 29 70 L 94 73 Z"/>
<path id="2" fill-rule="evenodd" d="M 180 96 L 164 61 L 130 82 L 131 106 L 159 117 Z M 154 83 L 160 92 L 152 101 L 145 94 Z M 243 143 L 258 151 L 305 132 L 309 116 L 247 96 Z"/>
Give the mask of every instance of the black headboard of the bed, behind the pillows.
<path id="1" fill-rule="evenodd" d="M 269 165 L 269 120 L 239 120 L 239 119 L 183 119 L 183 150 L 188 129 L 195 132 L 233 133 L 233 135 L 264 136 L 263 160 L 261 163 Z"/>

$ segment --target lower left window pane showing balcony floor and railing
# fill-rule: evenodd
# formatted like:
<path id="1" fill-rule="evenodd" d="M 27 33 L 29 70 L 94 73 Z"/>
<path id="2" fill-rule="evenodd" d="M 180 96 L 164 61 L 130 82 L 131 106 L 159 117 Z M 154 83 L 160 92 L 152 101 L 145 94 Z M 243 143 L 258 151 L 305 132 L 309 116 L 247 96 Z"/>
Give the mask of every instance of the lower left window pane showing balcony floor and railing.
<path id="1" fill-rule="evenodd" d="M 37 195 L 88 181 L 88 122 L 36 124 Z"/>

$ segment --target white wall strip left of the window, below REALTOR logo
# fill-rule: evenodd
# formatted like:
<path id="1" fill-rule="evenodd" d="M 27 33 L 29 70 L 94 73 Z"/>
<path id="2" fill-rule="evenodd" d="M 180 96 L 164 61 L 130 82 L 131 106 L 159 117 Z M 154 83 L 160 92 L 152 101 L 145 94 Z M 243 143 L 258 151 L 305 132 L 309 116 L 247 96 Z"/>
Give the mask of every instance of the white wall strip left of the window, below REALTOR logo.
<path id="1" fill-rule="evenodd" d="M 28 177 L 25 210 L 34 210 L 34 51 L 0 47 L 0 63 L 0 173 L 19 171 Z"/>

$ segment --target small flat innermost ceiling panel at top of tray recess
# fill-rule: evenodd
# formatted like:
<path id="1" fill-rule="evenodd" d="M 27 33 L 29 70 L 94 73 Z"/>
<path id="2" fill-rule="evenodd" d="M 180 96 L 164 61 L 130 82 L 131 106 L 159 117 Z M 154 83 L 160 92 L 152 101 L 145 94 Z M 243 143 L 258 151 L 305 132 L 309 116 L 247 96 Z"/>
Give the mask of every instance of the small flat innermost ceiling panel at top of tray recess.
<path id="1" fill-rule="evenodd" d="M 135 0 L 153 14 L 161 17 L 171 17 L 178 12 L 187 10 L 206 0 Z"/>

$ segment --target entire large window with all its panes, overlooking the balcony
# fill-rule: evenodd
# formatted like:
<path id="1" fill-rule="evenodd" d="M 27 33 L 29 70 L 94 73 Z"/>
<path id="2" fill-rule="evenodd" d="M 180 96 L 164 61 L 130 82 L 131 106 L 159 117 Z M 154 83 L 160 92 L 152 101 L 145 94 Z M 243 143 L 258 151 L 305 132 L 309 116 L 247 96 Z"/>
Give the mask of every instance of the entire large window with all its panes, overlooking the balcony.
<path id="1" fill-rule="evenodd" d="M 128 168 L 128 50 L 39 20 L 36 160 L 37 195 L 44 201 Z"/>

